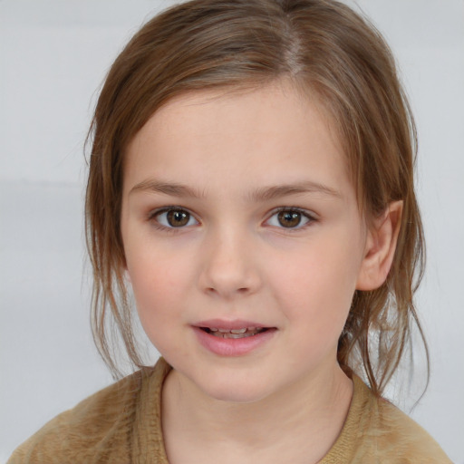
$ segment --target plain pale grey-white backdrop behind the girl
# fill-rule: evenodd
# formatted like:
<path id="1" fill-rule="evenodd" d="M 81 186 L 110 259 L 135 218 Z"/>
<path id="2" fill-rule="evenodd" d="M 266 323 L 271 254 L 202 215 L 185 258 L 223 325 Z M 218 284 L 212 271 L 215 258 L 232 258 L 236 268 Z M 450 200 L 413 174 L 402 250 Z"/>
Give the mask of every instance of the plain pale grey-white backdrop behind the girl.
<path id="1" fill-rule="evenodd" d="M 112 60 L 171 3 L 0 0 L 0 462 L 111 382 L 89 329 L 82 145 Z M 412 417 L 462 464 L 464 0 L 359 5 L 398 58 L 419 127 L 428 241 L 419 309 L 432 371 Z"/>

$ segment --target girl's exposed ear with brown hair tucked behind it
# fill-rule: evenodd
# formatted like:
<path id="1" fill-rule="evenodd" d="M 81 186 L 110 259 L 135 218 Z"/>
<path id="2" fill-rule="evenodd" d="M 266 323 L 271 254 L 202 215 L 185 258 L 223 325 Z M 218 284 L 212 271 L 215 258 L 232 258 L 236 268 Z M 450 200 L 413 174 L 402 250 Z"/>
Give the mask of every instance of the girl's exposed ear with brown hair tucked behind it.
<path id="1" fill-rule="evenodd" d="M 356 290 L 372 291 L 387 279 L 401 227 L 402 201 L 393 201 L 367 232 Z"/>

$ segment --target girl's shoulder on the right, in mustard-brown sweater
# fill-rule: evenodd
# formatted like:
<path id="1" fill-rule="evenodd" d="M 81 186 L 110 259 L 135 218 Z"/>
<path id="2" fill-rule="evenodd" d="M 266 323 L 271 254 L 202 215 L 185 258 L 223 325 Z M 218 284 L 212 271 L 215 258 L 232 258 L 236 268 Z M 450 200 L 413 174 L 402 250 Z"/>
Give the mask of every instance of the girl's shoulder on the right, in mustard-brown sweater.
<path id="1" fill-rule="evenodd" d="M 361 403 L 362 446 L 358 452 L 362 460 L 359 462 L 451 463 L 430 434 L 404 412 L 391 402 L 375 397 L 360 379 L 355 380 L 355 389 Z"/>

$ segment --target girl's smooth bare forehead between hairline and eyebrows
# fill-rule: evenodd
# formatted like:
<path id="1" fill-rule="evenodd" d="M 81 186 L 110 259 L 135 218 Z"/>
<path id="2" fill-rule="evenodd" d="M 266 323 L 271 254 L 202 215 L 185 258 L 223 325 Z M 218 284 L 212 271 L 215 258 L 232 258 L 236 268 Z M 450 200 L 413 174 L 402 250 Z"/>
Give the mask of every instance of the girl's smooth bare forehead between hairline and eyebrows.
<path id="1" fill-rule="evenodd" d="M 306 178 L 347 183 L 345 157 L 322 105 L 287 82 L 169 101 L 126 151 L 125 187 L 150 176 L 206 188 L 224 186 L 225 176 L 238 187 Z"/>

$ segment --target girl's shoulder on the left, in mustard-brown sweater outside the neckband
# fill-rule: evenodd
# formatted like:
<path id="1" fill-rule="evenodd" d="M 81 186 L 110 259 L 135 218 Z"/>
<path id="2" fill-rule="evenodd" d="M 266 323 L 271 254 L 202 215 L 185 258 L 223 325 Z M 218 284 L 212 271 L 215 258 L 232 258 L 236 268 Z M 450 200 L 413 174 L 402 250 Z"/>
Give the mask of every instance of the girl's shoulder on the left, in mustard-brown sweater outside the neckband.
<path id="1" fill-rule="evenodd" d="M 16 449 L 8 464 L 130 462 L 140 397 L 150 382 L 162 382 L 156 372 L 134 372 L 64 411 Z"/>

